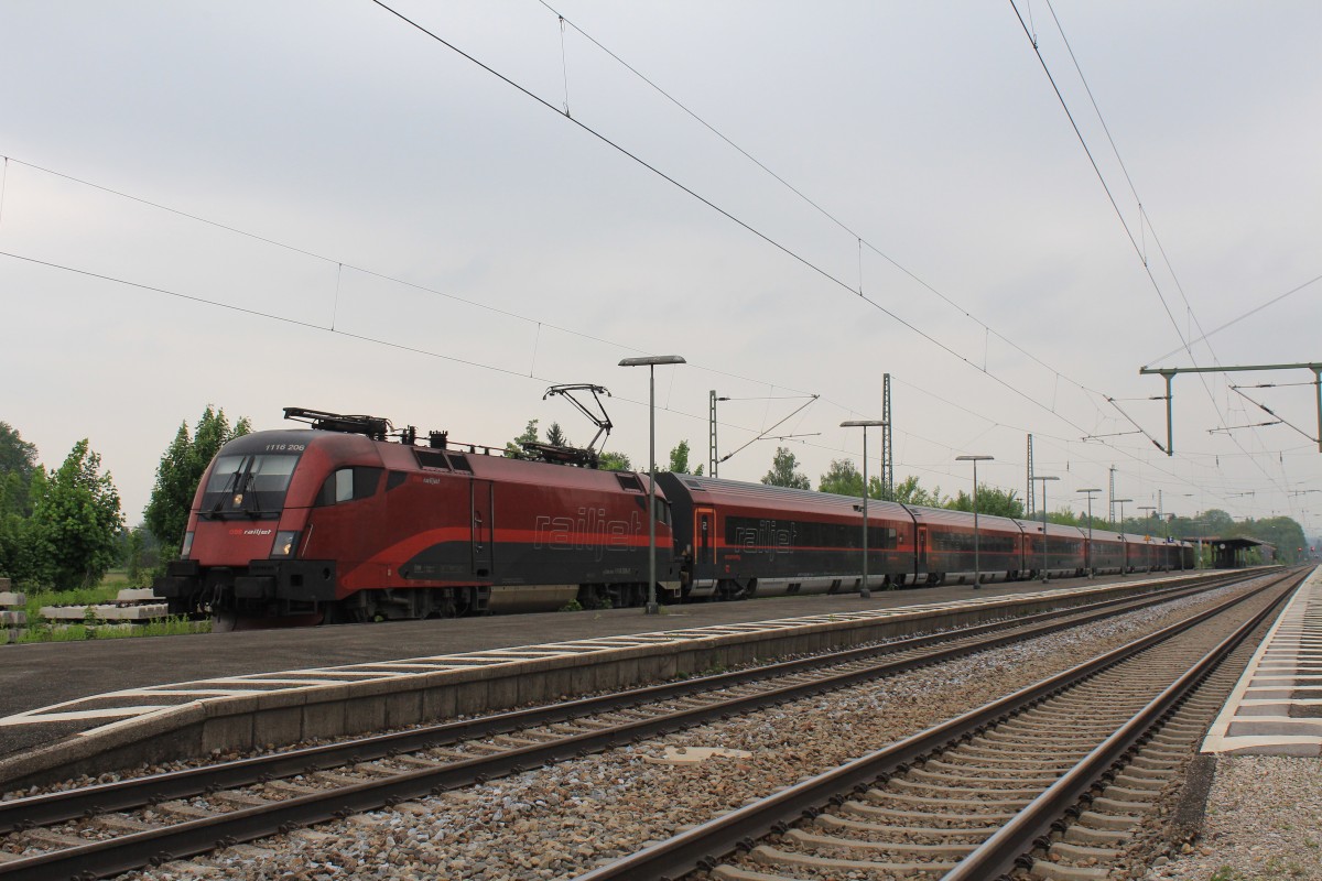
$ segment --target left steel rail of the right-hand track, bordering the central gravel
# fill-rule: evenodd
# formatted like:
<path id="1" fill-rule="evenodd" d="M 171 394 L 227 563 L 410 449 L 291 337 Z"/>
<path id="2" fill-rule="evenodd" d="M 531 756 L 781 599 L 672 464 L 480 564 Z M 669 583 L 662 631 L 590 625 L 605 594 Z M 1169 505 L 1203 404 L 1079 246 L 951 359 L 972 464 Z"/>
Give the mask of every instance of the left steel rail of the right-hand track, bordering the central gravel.
<path id="1" fill-rule="evenodd" d="M 758 839 L 773 832 L 788 831 L 793 820 L 816 818 L 822 812 L 824 804 L 843 803 L 843 794 L 866 791 L 874 782 L 887 781 L 895 774 L 904 773 L 910 770 L 912 763 L 925 761 L 929 756 L 947 749 L 953 741 L 972 740 L 973 736 L 985 732 L 992 725 L 1009 720 L 1023 709 L 1036 705 L 1145 649 L 1177 637 L 1289 579 L 1302 580 L 1302 575 L 1292 573 L 1276 579 L 1270 584 L 1076 664 L 1055 676 L 1021 688 L 990 704 L 784 789 L 760 802 L 736 808 L 637 853 L 580 874 L 575 881 L 666 881 L 698 869 L 713 869 L 720 859 L 740 849 L 752 849 Z M 1260 622 L 1265 618 L 1278 602 L 1256 616 L 1256 619 Z M 985 881 L 990 876 L 969 877 Z"/>

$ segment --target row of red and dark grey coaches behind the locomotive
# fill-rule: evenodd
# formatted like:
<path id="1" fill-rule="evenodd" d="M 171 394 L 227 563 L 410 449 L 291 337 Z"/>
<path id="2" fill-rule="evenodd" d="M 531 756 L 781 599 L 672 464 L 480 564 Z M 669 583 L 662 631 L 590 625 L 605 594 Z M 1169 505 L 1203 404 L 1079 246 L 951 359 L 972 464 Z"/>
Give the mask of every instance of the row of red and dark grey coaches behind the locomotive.
<path id="1" fill-rule="evenodd" d="M 859 499 L 690 474 L 657 474 L 673 507 L 683 596 L 845 593 L 862 586 Z M 1178 542 L 870 501 L 869 588 L 1191 568 Z"/>

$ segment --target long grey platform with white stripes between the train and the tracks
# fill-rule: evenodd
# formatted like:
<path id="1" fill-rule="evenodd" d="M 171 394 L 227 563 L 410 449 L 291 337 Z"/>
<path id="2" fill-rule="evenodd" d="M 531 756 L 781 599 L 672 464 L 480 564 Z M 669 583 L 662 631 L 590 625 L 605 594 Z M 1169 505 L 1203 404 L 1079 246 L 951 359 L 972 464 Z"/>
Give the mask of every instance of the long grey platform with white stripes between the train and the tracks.
<path id="1" fill-rule="evenodd" d="M 496 712 L 1181 577 L 9 646 L 0 650 L 0 783 L 38 766 L 95 771 Z"/>

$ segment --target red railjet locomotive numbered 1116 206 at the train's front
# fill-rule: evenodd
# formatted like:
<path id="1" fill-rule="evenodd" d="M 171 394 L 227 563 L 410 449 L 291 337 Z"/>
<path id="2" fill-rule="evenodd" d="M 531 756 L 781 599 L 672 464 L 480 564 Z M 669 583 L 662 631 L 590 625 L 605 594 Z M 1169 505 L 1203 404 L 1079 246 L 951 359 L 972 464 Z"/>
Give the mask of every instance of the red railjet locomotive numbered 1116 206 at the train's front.
<path id="1" fill-rule="evenodd" d="M 646 476 L 464 452 L 444 435 L 387 442 L 385 420 L 360 433 L 365 417 L 341 419 L 221 449 L 155 585 L 172 613 L 315 623 L 646 597 Z M 669 506 L 656 505 L 658 581 L 677 598 Z"/>

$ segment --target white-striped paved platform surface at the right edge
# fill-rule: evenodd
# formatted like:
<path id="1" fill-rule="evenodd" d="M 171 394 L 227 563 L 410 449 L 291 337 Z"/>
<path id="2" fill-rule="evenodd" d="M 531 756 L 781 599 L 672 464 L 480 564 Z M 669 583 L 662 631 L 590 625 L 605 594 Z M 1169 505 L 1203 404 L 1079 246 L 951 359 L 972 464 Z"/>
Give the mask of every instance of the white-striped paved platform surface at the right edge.
<path id="1" fill-rule="evenodd" d="M 1272 625 L 1203 752 L 1322 757 L 1322 567 Z"/>

